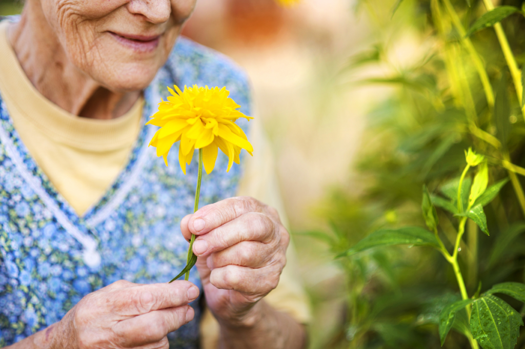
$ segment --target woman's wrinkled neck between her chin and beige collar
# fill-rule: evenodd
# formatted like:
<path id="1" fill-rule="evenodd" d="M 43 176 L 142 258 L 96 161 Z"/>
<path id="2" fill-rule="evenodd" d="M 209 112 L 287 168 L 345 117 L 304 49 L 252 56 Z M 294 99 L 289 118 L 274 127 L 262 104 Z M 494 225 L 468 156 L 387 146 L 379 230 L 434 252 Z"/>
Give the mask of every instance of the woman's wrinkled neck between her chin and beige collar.
<path id="1" fill-rule="evenodd" d="M 68 59 L 38 1 L 27 2 L 8 39 L 33 86 L 60 108 L 81 117 L 114 119 L 125 114 L 141 91 L 114 92 L 91 79 Z"/>

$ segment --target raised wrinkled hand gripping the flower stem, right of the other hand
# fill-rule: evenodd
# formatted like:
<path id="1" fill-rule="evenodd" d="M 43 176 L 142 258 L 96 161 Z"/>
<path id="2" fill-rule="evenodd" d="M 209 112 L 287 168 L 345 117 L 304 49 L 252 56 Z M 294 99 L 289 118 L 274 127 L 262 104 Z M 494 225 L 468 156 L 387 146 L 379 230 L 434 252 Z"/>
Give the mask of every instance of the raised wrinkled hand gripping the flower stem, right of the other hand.
<path id="1" fill-rule="evenodd" d="M 259 300 L 277 287 L 290 241 L 277 210 L 251 197 L 207 205 L 181 221 L 182 234 L 197 235 L 193 252 L 206 302 L 219 323 L 259 321 Z"/>

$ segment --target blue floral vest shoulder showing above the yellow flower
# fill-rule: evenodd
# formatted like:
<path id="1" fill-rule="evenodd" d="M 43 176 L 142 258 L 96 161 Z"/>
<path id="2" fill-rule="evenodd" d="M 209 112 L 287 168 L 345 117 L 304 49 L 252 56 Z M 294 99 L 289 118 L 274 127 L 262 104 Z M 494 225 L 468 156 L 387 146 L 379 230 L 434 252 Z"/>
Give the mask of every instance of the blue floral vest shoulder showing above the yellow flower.
<path id="1" fill-rule="evenodd" d="M 232 97 L 249 97 L 248 77 L 243 68 L 220 52 L 186 37 L 178 38 L 166 65 L 174 72 L 181 86 L 225 86 Z"/>

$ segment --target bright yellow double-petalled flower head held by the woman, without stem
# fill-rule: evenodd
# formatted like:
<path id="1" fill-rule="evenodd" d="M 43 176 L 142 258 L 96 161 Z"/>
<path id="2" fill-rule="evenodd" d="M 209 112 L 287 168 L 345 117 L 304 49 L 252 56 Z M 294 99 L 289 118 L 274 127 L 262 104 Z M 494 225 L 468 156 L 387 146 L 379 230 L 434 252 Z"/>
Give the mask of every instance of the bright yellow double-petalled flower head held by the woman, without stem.
<path id="1" fill-rule="evenodd" d="M 206 173 L 210 174 L 215 167 L 218 149 L 229 159 L 228 169 L 239 163 L 241 149 L 250 155 L 254 151 L 246 134 L 235 124 L 239 118 L 247 117 L 237 109 L 240 105 L 229 98 L 225 87 L 208 88 L 184 86 L 184 92 L 174 86 L 172 96 L 159 103 L 159 111 L 146 125 L 161 128 L 153 136 L 150 145 L 157 149 L 157 156 L 162 156 L 167 166 L 167 154 L 173 143 L 181 141 L 178 147 L 178 161 L 182 172 L 186 174 L 186 164 L 190 164 L 195 149 L 203 150 L 203 163 Z"/>

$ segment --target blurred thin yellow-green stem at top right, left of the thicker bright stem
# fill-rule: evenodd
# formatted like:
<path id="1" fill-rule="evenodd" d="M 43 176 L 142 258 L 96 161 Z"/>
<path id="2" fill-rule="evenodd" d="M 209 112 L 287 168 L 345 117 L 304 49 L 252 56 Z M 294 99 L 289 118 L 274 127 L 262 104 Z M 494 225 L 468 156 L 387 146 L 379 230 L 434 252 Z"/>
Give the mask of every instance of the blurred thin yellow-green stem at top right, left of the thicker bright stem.
<path id="1" fill-rule="evenodd" d="M 469 38 L 465 37 L 467 33 L 465 31 L 465 28 L 463 27 L 463 24 L 461 24 L 461 20 L 459 19 L 459 16 L 456 13 L 454 6 L 452 6 L 449 0 L 443 0 L 443 3 L 445 4 L 445 7 L 447 8 L 447 12 L 450 18 L 452 19 L 452 23 L 454 24 L 454 27 L 456 27 L 456 30 L 461 36 L 460 38 L 461 43 L 467 49 L 470 55 L 470 59 L 472 59 L 472 63 L 474 64 L 474 67 L 476 68 L 476 71 L 478 72 L 479 79 L 481 80 L 481 84 L 483 86 L 483 90 L 485 91 L 485 97 L 487 98 L 487 104 L 489 105 L 490 108 L 492 108 L 494 107 L 494 91 L 492 90 L 492 86 L 490 84 L 490 80 L 487 75 L 487 71 L 485 70 L 485 66 L 483 62 L 481 61 L 481 58 L 479 57 L 478 52 L 476 51 L 476 48 L 474 47 L 474 45 L 472 45 L 472 41 L 470 41 Z"/>

